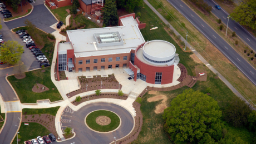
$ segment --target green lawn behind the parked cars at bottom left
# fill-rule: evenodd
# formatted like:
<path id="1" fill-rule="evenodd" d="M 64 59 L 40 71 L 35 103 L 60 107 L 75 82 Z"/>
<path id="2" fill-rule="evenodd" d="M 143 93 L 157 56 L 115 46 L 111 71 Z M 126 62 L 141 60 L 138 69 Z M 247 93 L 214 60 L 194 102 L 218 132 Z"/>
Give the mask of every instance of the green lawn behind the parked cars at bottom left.
<path id="1" fill-rule="evenodd" d="M 46 127 L 40 125 L 36 122 L 28 122 L 29 125 L 25 126 L 24 122 L 21 123 L 21 127 L 19 128 L 19 135 L 21 136 L 21 141 L 18 142 L 19 144 L 24 144 L 23 141 L 32 140 L 33 138 L 36 139 L 38 136 L 46 136 L 51 133 L 49 130 L 47 130 Z M 14 138 L 13 144 L 17 143 L 17 135 Z"/>

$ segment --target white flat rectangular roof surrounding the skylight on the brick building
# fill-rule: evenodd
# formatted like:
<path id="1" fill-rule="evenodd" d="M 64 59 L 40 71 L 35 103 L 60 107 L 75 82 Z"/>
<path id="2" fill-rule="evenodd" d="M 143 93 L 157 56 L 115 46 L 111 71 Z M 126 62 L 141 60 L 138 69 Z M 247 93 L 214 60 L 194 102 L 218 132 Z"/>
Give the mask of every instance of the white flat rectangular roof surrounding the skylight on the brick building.
<path id="1" fill-rule="evenodd" d="M 122 18 L 121 22 L 124 26 L 67 31 L 67 37 L 73 44 L 75 56 L 87 57 L 91 55 L 126 53 L 129 49 L 136 49 L 137 46 L 145 42 L 140 29 L 137 27 L 136 19 L 131 16 Z M 94 33 L 116 31 L 121 34 L 121 38 L 124 41 L 123 45 L 97 47 L 96 39 L 93 36 Z"/>

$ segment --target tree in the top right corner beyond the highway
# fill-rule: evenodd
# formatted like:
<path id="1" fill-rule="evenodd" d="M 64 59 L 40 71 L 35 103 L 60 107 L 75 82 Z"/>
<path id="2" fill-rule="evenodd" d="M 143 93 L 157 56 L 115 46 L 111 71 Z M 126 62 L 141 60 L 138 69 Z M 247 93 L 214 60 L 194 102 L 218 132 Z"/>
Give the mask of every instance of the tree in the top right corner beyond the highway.
<path id="1" fill-rule="evenodd" d="M 256 3 L 255 0 L 248 0 L 241 2 L 239 6 L 234 9 L 234 12 L 230 14 L 235 21 L 244 26 L 248 26 L 252 29 L 256 29 Z"/>

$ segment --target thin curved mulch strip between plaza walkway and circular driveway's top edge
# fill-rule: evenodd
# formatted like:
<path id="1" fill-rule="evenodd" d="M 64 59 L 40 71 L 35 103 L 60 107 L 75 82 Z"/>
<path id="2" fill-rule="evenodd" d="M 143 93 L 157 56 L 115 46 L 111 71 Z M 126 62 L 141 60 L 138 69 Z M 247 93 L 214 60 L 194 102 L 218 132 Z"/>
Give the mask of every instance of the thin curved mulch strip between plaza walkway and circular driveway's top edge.
<path id="1" fill-rule="evenodd" d="M 116 98 L 116 99 L 120 99 L 120 100 L 127 100 L 127 97 L 128 97 L 127 95 L 119 96 L 119 95 L 117 95 L 117 93 L 101 93 L 100 96 L 90 95 L 89 100 L 88 100 L 88 96 L 82 97 L 80 102 L 73 101 L 72 104 L 77 106 L 82 102 L 96 100 L 99 98 Z"/>

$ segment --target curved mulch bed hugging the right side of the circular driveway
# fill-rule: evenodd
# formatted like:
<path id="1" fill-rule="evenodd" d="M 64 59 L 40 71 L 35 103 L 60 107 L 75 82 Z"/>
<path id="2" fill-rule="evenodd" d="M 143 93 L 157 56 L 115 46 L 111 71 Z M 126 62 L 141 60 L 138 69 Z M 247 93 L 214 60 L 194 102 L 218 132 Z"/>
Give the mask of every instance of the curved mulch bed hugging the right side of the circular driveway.
<path id="1" fill-rule="evenodd" d="M 139 136 L 139 133 L 141 131 L 141 127 L 142 127 L 142 123 L 143 123 L 143 117 L 142 117 L 142 113 L 140 111 L 140 103 L 137 103 L 134 101 L 134 103 L 132 103 L 132 106 L 135 108 L 135 111 L 136 111 L 136 117 L 135 118 L 135 127 L 134 127 L 134 130 L 132 130 L 132 132 L 122 138 L 121 140 L 119 141 L 116 141 L 116 143 L 122 143 L 122 144 L 126 144 L 126 143 L 130 143 L 134 140 L 137 139 L 137 137 Z M 112 142 L 111 144 L 114 144 L 115 142 Z"/>

